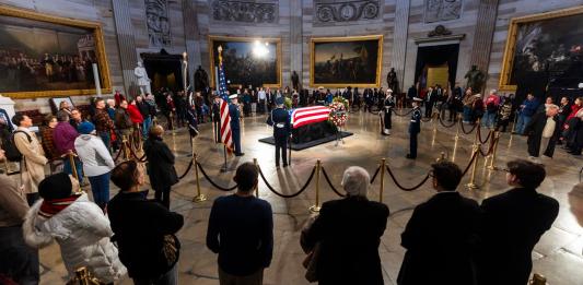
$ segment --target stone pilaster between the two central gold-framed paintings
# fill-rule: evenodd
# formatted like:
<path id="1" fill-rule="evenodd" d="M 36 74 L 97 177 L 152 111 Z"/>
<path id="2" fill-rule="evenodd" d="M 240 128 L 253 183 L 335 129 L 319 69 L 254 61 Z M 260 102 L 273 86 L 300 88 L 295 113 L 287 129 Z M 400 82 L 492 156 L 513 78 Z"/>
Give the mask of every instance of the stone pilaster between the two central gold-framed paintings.
<path id="1" fill-rule="evenodd" d="M 303 23 L 302 1 L 290 1 L 290 76 L 293 71 L 300 76 L 300 85 L 303 85 Z M 298 56 L 294 56 L 298 55 Z M 291 78 L 290 78 L 290 86 Z"/>

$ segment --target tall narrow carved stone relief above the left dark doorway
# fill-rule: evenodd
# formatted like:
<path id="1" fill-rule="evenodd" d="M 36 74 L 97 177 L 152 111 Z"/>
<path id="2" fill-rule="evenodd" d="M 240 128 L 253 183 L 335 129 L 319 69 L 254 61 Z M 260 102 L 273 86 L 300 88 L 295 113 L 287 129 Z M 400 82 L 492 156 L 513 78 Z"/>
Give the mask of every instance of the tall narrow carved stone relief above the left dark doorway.
<path id="1" fill-rule="evenodd" d="M 170 47 L 170 19 L 167 0 L 144 0 L 145 24 L 150 47 Z"/>

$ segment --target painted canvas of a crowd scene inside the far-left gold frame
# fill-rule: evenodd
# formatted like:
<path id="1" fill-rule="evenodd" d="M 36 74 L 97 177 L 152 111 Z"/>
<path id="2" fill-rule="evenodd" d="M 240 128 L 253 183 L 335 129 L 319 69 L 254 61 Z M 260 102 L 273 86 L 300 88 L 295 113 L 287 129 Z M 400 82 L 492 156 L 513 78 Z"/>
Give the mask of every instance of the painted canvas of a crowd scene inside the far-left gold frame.
<path id="1" fill-rule="evenodd" d="M 95 88 L 94 31 L 0 15 L 0 93 Z"/>

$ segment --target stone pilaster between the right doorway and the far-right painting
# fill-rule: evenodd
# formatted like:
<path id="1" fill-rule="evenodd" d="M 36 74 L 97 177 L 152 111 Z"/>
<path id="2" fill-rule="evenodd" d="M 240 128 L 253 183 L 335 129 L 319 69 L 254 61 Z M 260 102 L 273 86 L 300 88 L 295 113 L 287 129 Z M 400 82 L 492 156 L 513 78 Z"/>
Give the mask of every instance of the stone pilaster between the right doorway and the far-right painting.
<path id="1" fill-rule="evenodd" d="M 495 28 L 499 0 L 481 0 L 478 7 L 478 22 L 474 35 L 471 49 L 471 66 L 477 66 L 485 73 L 488 72 L 492 38 Z"/>

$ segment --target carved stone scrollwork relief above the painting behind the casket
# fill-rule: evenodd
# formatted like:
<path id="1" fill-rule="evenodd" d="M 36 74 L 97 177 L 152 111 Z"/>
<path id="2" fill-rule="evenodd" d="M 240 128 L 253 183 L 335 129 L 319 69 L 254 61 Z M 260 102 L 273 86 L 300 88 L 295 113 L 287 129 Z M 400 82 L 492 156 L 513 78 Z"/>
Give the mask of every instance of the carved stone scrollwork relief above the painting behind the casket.
<path id="1" fill-rule="evenodd" d="M 354 22 L 375 20 L 381 15 L 378 0 L 364 1 L 314 1 L 316 23 Z"/>

